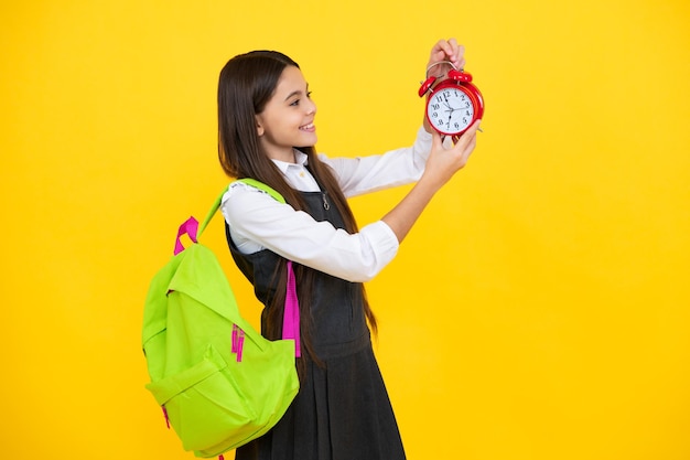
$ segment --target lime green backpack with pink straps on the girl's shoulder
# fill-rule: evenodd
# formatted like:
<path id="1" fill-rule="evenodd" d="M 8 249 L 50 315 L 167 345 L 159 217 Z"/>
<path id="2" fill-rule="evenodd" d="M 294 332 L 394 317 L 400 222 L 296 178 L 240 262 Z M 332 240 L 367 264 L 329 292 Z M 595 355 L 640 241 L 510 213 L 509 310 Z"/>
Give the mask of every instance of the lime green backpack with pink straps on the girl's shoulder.
<path id="1" fill-rule="evenodd" d="M 268 185 L 242 181 L 284 203 Z M 292 265 L 288 263 L 283 340 L 269 341 L 241 318 L 220 264 L 197 243 L 222 197 L 201 227 L 194 217 L 182 224 L 175 255 L 151 281 L 143 311 L 142 345 L 151 377 L 147 388 L 183 448 L 197 457 L 223 458 L 266 434 L 299 389 Z M 184 234 L 194 243 L 186 249 L 180 242 Z"/>

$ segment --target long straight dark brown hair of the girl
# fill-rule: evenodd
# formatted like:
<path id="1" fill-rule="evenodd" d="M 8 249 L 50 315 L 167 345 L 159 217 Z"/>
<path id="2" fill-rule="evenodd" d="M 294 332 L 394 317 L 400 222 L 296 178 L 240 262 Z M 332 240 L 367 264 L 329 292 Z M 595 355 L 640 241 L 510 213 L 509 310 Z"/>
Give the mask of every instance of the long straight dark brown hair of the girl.
<path id="1" fill-rule="evenodd" d="M 218 159 L 230 178 L 252 178 L 278 191 L 298 211 L 306 211 L 302 195 L 292 189 L 282 173 L 262 151 L 256 127 L 256 115 L 261 114 L 273 96 L 282 72 L 287 66 L 300 66 L 287 55 L 276 51 L 252 51 L 233 57 L 220 71 L 218 81 Z M 325 190 L 343 217 L 345 229 L 357 233 L 352 210 L 331 168 L 319 160 L 313 147 L 294 146 L 308 156 L 314 179 Z M 285 298 L 285 260 L 277 267 L 278 291 L 268 306 L 265 321 L 268 339 L 280 339 L 282 332 L 283 303 Z M 311 306 L 315 270 L 297 265 L 295 278 L 300 299 L 302 344 L 313 361 L 320 362 L 313 352 L 310 338 Z M 364 287 L 363 287 L 364 295 Z M 376 317 L 366 295 L 363 298 L 367 321 L 376 333 Z"/>

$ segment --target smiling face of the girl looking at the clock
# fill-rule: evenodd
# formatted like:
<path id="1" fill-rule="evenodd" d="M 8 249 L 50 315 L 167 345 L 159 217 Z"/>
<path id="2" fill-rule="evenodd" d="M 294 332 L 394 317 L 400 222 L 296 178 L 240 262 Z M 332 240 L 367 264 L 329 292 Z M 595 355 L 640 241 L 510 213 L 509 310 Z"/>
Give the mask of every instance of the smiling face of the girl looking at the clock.
<path id="1" fill-rule="evenodd" d="M 316 143 L 314 126 L 316 105 L 302 72 L 287 66 L 263 111 L 256 116 L 259 141 L 263 151 L 274 160 L 294 162 L 293 147 Z"/>

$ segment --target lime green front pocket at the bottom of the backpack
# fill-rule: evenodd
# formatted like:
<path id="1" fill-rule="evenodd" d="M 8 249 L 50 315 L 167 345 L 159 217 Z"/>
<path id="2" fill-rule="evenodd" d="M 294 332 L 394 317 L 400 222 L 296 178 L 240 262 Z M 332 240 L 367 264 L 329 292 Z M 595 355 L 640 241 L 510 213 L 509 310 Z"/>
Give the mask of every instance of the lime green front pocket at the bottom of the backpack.
<path id="1" fill-rule="evenodd" d="M 256 431 L 256 415 L 228 371 L 220 353 L 208 345 L 201 363 L 147 385 L 185 450 L 205 450 Z"/>

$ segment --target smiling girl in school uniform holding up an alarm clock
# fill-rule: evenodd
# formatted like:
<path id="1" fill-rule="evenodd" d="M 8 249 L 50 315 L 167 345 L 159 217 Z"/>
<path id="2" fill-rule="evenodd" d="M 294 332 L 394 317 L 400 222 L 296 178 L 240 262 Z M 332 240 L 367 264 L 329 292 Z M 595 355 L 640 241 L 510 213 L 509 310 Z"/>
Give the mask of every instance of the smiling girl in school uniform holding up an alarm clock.
<path id="1" fill-rule="evenodd" d="M 464 64 L 455 40 L 439 41 L 429 64 Z M 443 73 L 441 65 L 433 72 Z M 237 460 L 405 459 L 398 426 L 374 357 L 376 319 L 363 282 L 396 255 L 434 193 L 464 167 L 475 124 L 444 147 L 424 121 L 414 145 L 365 158 L 316 154 L 316 106 L 300 67 L 273 51 L 231 58 L 218 83 L 218 154 L 233 183 L 222 202 L 235 261 L 265 304 L 261 332 L 280 339 L 285 263 L 292 260 L 301 311 L 300 392 L 263 437 Z M 346 199 L 417 181 L 380 221 L 358 229 Z M 369 328 L 367 328 L 367 322 Z"/>

